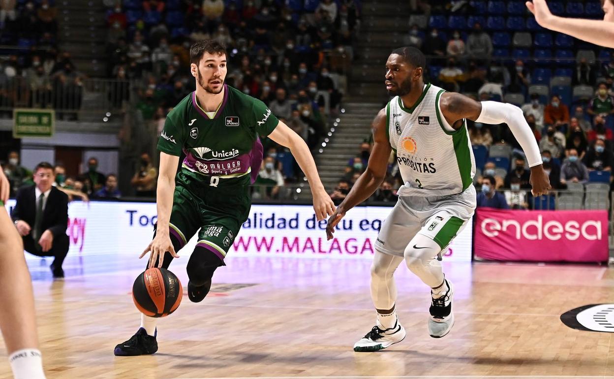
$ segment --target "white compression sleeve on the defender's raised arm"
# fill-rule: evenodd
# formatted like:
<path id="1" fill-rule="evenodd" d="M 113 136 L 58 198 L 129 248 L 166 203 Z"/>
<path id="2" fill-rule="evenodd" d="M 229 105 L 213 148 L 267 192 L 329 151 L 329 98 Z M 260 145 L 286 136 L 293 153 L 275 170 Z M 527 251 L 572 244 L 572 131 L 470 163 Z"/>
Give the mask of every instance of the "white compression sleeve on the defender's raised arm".
<path id="1" fill-rule="evenodd" d="M 475 121 L 494 125 L 507 123 L 516 141 L 523 147 L 529 167 L 542 164 L 542 155 L 537 146 L 537 140 L 519 107 L 497 101 L 482 101 L 482 112 Z"/>

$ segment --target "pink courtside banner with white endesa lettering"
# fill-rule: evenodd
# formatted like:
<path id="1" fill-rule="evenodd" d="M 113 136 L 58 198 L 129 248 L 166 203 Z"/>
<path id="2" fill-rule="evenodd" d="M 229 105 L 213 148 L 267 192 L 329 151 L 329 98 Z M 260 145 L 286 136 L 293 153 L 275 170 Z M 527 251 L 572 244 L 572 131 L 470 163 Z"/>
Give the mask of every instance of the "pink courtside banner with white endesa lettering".
<path id="1" fill-rule="evenodd" d="M 537 262 L 608 260 L 607 211 L 478 208 L 475 257 Z"/>

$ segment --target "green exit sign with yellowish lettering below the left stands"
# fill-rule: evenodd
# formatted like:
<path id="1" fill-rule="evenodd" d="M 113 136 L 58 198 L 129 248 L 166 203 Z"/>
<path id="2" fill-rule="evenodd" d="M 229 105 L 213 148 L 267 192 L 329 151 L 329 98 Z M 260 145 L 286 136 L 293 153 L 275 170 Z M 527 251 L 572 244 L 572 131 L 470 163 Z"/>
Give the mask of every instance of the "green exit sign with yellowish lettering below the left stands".
<path id="1" fill-rule="evenodd" d="M 13 138 L 51 137 L 55 131 L 53 109 L 14 109 Z"/>

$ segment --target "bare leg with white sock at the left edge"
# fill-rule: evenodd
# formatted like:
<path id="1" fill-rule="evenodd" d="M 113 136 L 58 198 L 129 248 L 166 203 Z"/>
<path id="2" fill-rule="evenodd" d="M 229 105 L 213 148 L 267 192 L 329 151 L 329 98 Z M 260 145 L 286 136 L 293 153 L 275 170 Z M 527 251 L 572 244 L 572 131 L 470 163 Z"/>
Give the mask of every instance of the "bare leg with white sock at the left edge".
<path id="1" fill-rule="evenodd" d="M 4 205 L 0 208 L 0 329 L 15 379 L 44 379 L 23 243 Z"/>

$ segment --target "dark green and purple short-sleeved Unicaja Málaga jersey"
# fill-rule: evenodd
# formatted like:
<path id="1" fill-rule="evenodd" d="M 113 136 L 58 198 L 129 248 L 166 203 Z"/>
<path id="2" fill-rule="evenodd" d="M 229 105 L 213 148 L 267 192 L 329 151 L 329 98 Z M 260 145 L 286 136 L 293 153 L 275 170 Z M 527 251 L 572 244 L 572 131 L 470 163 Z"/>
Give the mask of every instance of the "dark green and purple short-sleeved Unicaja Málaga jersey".
<path id="1" fill-rule="evenodd" d="M 182 171 L 192 179 L 222 184 L 229 178 L 247 180 L 251 173 L 253 182 L 262 163 L 258 135 L 270 135 L 278 123 L 262 101 L 229 85 L 224 85 L 224 98 L 213 118 L 192 92 L 166 116 L 158 150 L 177 156 L 184 152 Z"/>

